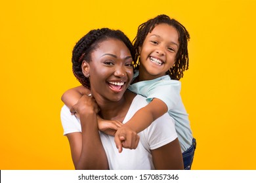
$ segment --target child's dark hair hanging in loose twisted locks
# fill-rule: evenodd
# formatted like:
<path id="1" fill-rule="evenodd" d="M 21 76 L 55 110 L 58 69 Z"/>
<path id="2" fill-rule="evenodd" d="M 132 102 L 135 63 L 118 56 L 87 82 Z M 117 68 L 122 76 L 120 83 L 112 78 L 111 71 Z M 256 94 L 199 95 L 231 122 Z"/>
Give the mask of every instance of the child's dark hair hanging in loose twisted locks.
<path id="1" fill-rule="evenodd" d="M 140 65 L 140 60 L 138 59 L 139 47 L 142 47 L 148 33 L 151 33 L 154 27 L 159 24 L 171 25 L 175 27 L 179 34 L 179 50 L 175 58 L 175 64 L 167 71 L 167 75 L 173 80 L 180 80 L 183 77 L 183 72 L 188 69 L 188 41 L 190 40 L 190 35 L 181 23 L 165 14 L 156 16 L 156 18 L 139 25 L 137 36 L 133 40 L 137 53 L 133 68 L 138 69 Z"/>

